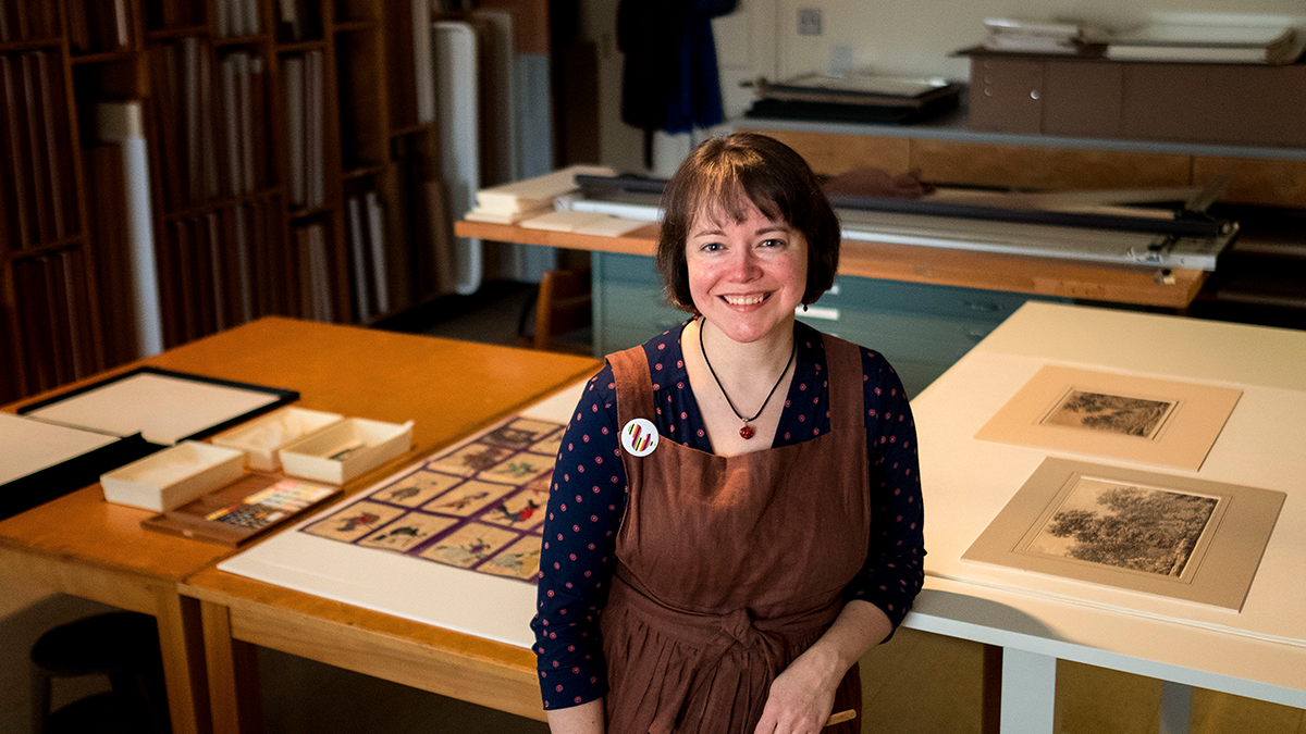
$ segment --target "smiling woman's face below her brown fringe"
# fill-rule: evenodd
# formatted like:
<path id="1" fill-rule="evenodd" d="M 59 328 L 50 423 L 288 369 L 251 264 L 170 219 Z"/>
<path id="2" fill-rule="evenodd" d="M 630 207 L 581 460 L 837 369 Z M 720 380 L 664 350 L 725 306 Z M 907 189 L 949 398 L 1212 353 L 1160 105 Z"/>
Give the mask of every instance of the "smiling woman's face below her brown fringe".
<path id="1" fill-rule="evenodd" d="M 743 222 L 700 213 L 686 238 L 693 306 L 716 328 L 750 343 L 793 328 L 807 289 L 807 238 L 748 205 Z"/>

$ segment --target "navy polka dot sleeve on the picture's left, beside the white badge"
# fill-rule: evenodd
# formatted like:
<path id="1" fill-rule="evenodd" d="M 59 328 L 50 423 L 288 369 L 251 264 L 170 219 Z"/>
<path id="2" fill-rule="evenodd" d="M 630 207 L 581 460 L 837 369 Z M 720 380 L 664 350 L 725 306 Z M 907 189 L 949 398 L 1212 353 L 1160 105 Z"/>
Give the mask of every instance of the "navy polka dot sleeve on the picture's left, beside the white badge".
<path id="1" fill-rule="evenodd" d="M 626 508 L 614 396 L 613 368 L 605 367 L 585 387 L 554 466 L 538 609 L 530 623 L 546 709 L 582 704 L 607 691 L 598 616 Z"/>

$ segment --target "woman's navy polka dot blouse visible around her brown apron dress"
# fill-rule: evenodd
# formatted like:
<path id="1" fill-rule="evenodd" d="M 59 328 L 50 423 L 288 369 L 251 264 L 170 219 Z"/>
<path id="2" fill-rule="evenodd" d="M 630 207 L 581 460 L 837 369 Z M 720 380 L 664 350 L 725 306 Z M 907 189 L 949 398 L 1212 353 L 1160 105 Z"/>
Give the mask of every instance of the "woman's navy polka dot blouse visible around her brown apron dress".
<path id="1" fill-rule="evenodd" d="M 829 432 L 825 353 L 818 332 L 798 324 L 798 366 L 785 400 L 774 447 Z M 680 358 L 679 329 L 644 349 L 653 376 L 658 432 L 712 451 Z M 845 599 L 882 609 L 896 628 L 923 580 L 921 479 L 912 409 L 897 375 L 876 353 L 862 350 L 863 406 L 870 457 L 871 541 Z M 618 439 L 611 367 L 589 381 L 563 436 L 554 470 L 539 602 L 532 622 L 546 709 L 567 708 L 607 692 L 598 619 L 615 563 L 616 530 L 626 509 L 626 470 Z"/>

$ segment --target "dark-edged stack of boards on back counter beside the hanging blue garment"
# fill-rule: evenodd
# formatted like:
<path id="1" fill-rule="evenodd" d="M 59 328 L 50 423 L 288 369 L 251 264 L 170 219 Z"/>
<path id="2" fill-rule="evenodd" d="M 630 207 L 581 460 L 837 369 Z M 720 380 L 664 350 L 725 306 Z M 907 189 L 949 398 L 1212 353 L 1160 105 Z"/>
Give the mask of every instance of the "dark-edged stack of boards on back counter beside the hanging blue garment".
<path id="1" fill-rule="evenodd" d="M 849 123 L 914 123 L 957 106 L 961 85 L 943 78 L 806 74 L 756 82 L 748 118 Z"/>

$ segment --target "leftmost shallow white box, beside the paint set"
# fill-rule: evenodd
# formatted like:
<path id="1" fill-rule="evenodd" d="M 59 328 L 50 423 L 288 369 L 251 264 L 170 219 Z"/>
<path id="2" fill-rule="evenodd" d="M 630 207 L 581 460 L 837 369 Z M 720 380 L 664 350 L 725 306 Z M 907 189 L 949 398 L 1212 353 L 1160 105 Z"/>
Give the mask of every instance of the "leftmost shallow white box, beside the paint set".
<path id="1" fill-rule="evenodd" d="M 99 478 L 104 499 L 167 512 L 244 474 L 244 452 L 182 441 Z"/>

